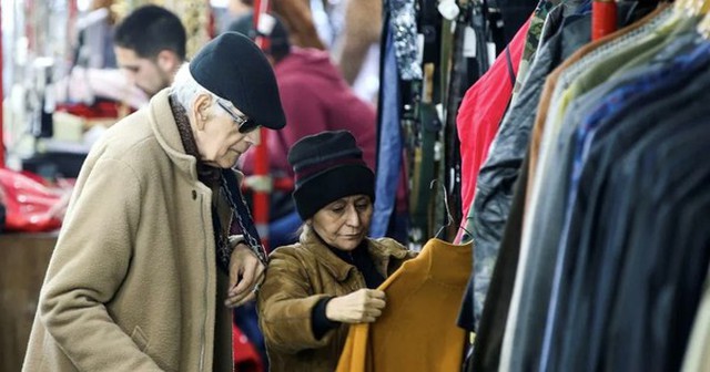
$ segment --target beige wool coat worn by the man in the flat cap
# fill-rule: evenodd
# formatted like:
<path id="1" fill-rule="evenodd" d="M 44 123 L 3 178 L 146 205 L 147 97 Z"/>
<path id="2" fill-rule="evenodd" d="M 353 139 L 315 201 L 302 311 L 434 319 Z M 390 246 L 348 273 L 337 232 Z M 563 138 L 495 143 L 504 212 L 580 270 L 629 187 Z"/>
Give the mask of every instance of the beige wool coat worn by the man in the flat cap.
<path id="1" fill-rule="evenodd" d="M 111 127 L 79 175 L 23 371 L 232 371 L 212 192 L 168 91 Z"/>

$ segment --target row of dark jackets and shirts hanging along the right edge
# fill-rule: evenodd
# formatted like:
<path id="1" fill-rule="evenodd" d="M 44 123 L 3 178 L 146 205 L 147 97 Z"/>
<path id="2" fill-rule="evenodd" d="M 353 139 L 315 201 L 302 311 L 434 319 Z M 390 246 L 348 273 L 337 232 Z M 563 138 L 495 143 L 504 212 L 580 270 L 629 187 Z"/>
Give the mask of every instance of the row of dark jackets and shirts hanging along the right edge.
<path id="1" fill-rule="evenodd" d="M 708 4 L 647 6 L 592 43 L 588 2 L 530 21 L 468 214 L 470 371 L 710 368 Z"/>

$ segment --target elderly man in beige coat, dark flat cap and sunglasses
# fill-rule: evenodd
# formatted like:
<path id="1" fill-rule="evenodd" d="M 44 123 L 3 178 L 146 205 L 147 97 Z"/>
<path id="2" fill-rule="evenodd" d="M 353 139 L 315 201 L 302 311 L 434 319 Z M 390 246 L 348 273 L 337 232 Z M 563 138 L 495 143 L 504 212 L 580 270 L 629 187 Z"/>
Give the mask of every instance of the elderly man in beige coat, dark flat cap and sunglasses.
<path id="1" fill-rule="evenodd" d="M 206 44 L 89 154 L 39 300 L 23 371 L 232 371 L 230 307 L 263 280 L 230 168 L 281 128 L 247 38 Z"/>

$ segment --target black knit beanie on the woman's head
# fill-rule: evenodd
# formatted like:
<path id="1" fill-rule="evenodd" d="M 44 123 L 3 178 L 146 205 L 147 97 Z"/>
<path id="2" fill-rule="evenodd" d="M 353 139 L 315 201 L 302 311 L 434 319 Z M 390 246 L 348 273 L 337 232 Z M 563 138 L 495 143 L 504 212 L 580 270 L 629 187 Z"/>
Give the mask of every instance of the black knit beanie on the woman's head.
<path id="1" fill-rule="evenodd" d="M 363 194 L 375 200 L 375 174 L 347 131 L 301 138 L 291 147 L 288 163 L 295 174 L 293 199 L 303 220 L 342 197 Z"/>

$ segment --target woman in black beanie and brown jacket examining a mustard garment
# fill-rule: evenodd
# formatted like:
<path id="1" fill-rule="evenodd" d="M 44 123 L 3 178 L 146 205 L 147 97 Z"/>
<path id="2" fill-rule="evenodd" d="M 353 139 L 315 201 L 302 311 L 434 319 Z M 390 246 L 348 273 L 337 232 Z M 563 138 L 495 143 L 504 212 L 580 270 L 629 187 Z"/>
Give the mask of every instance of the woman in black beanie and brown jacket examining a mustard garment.
<path id="1" fill-rule="evenodd" d="M 348 324 L 386 306 L 376 288 L 415 256 L 367 237 L 375 183 L 349 132 L 322 132 L 288 153 L 293 198 L 305 221 L 300 242 L 275 249 L 258 292 L 260 324 L 274 372 L 335 371 Z"/>

